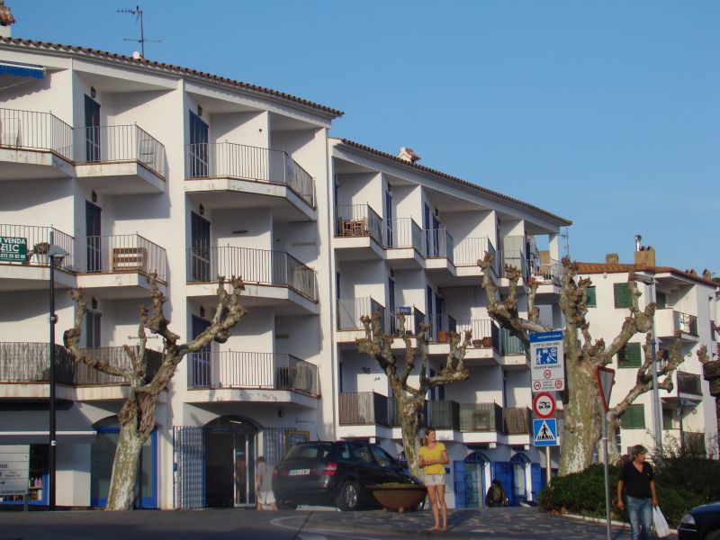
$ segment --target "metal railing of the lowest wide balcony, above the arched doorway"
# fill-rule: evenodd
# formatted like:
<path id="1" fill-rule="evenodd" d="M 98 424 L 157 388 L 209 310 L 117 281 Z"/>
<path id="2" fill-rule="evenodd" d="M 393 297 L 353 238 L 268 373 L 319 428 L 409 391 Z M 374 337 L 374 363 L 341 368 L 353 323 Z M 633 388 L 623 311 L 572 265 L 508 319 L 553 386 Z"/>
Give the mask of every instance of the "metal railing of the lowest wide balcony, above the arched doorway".
<path id="1" fill-rule="evenodd" d="M 320 395 L 318 366 L 292 355 L 191 353 L 188 362 L 189 388 L 296 390 Z"/>

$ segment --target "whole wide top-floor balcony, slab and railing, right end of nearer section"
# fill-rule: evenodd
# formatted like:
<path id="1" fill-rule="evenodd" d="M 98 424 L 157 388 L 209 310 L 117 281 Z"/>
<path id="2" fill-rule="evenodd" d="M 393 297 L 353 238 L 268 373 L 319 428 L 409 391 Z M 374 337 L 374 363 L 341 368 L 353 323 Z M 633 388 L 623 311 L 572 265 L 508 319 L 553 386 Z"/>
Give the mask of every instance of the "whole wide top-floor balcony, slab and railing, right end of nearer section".
<path id="1" fill-rule="evenodd" d="M 185 146 L 185 191 L 206 208 L 273 208 L 314 220 L 315 181 L 281 150 L 230 142 Z"/>

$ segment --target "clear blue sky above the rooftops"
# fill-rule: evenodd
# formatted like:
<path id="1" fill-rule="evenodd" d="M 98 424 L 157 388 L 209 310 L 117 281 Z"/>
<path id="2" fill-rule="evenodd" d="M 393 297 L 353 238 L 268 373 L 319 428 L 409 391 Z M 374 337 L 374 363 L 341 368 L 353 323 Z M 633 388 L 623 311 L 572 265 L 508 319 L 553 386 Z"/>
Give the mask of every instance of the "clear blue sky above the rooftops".
<path id="1" fill-rule="evenodd" d="M 5 0 L 13 36 L 131 54 L 123 0 Z M 143 0 L 146 57 L 338 108 L 331 135 L 574 222 L 572 258 L 720 274 L 720 2 Z"/>

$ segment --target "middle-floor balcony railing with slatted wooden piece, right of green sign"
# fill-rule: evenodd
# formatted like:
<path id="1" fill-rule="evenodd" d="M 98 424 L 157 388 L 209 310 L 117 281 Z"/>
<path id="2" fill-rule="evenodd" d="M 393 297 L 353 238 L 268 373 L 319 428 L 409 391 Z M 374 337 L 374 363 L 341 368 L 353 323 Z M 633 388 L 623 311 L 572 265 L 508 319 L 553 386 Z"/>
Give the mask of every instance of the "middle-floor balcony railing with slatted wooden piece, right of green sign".
<path id="1" fill-rule="evenodd" d="M 139 234 L 85 237 L 81 247 L 77 271 L 94 273 L 157 273 L 157 279 L 166 281 L 167 254 L 165 248 Z"/>

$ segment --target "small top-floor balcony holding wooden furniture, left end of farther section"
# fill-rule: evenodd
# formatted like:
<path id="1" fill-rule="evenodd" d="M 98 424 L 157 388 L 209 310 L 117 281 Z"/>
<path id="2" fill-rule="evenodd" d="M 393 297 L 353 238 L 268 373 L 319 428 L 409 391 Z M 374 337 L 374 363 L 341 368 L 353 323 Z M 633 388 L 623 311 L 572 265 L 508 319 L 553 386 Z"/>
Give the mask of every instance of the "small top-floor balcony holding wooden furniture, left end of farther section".
<path id="1" fill-rule="evenodd" d="M 338 206 L 333 246 L 341 261 L 383 258 L 382 218 L 369 204 Z"/>

